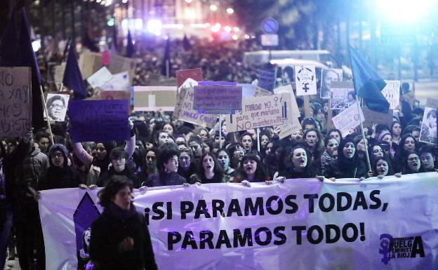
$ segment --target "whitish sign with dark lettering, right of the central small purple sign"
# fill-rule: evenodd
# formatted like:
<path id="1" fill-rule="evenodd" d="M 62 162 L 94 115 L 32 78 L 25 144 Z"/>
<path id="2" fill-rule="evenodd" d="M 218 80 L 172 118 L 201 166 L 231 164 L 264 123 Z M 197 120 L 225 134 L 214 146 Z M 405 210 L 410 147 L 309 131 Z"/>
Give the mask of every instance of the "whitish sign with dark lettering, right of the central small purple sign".
<path id="1" fill-rule="evenodd" d="M 242 110 L 227 114 L 229 132 L 291 123 L 291 94 L 252 97 L 242 102 Z"/>

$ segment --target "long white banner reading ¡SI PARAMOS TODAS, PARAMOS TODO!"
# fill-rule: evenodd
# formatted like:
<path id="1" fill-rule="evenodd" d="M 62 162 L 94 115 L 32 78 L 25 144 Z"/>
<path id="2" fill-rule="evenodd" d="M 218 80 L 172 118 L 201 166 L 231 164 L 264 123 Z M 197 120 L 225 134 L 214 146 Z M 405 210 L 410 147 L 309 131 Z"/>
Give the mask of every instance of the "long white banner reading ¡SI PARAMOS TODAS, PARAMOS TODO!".
<path id="1" fill-rule="evenodd" d="M 135 192 L 134 203 L 150 224 L 159 269 L 432 270 L 437 178 L 159 187 Z M 46 269 L 86 260 L 86 229 L 102 210 L 97 192 L 41 192 Z"/>

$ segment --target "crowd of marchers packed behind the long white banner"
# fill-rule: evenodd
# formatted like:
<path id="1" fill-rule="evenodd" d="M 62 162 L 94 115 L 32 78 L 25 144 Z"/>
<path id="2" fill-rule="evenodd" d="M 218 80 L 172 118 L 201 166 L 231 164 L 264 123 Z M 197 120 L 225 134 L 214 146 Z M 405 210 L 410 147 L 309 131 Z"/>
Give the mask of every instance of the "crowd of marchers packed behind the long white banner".
<path id="1" fill-rule="evenodd" d="M 239 61 L 227 62 L 227 59 L 239 59 L 239 56 L 228 52 L 208 59 L 206 55 L 213 58 L 217 54 L 215 49 L 202 43 L 199 48 L 203 49 L 192 50 L 191 58 L 203 63 L 203 71 L 210 71 L 204 71 L 206 79 L 245 79 L 243 74 L 220 76 L 217 69 L 224 65 L 223 70 L 232 74 L 233 69 L 228 67 L 237 67 Z M 208 51 L 202 53 L 203 50 Z M 151 64 L 157 62 L 157 58 L 145 53 L 142 59 L 136 76 L 139 84 L 148 72 L 157 72 Z M 176 58 L 175 65 L 184 59 Z M 252 79 L 251 74 L 246 79 Z M 412 108 L 408 96 L 409 93 L 401 90 L 399 112 L 394 114 L 392 123 L 366 126 L 366 138 L 360 130 L 352 130 L 345 137 L 340 130 L 327 130 L 328 112 L 322 101 L 311 102 L 312 117 L 305 118 L 304 102 L 300 97 L 297 102 L 302 112 L 303 129 L 281 140 L 278 126 L 229 133 L 225 121 L 216 123 L 215 128 L 204 128 L 180 121 L 172 112 L 131 114 L 126 119 L 126 125 L 131 128 L 131 137 L 126 142 L 72 142 L 67 122 L 51 124 L 55 144 L 51 144 L 46 128 L 33 130 L 33 134 L 29 133 L 22 140 L 1 138 L 0 201 L 14 205 L 20 264 L 21 261 L 32 264 L 29 256 L 33 256 L 33 252 L 29 252 L 29 243 L 25 242 L 37 230 L 23 231 L 23 228 L 27 227 L 25 223 L 38 224 L 36 200 L 39 191 L 45 189 L 104 187 L 114 175 L 124 175 L 133 182 L 133 187 L 147 189 L 227 182 L 250 187 L 251 182 L 272 184 L 296 178 L 366 181 L 369 177 L 379 177 L 384 181 L 387 175 L 402 177 L 434 171 L 437 168 L 436 144 L 420 142 L 423 109 Z M 430 121 L 430 128 L 436 130 L 437 116 L 436 111 L 433 112 L 430 117 L 435 121 Z M 371 171 L 367 168 L 367 151 Z M 5 208 L 8 204 L 1 205 Z M 4 212 L 1 211 L 2 215 Z M 1 216 L 0 220 L 3 227 L 6 219 Z M 44 259 L 42 257 L 39 257 L 40 261 Z"/>

